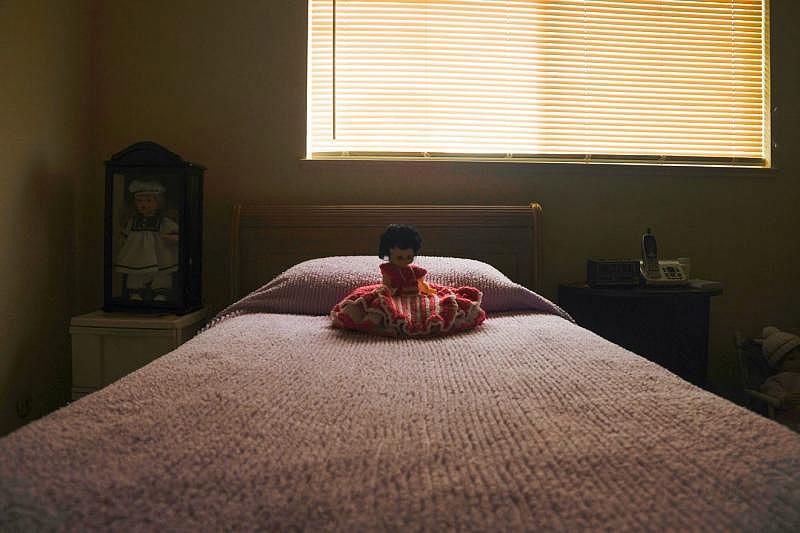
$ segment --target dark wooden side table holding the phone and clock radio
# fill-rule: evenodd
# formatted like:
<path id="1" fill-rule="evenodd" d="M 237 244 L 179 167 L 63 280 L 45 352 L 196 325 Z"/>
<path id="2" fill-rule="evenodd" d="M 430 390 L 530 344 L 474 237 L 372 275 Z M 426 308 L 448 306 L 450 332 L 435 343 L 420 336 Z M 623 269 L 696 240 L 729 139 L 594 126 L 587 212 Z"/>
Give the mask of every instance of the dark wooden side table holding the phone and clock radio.
<path id="1" fill-rule="evenodd" d="M 558 287 L 558 305 L 586 329 L 706 387 L 709 308 L 719 294 L 722 289 L 568 283 Z"/>

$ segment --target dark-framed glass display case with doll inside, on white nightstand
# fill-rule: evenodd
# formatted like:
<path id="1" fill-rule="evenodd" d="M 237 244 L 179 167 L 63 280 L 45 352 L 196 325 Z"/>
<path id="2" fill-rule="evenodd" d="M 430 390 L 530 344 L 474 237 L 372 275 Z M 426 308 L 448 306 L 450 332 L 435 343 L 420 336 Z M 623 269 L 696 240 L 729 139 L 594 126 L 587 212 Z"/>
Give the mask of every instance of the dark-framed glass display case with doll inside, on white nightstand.
<path id="1" fill-rule="evenodd" d="M 153 142 L 106 161 L 105 311 L 201 307 L 203 173 Z"/>

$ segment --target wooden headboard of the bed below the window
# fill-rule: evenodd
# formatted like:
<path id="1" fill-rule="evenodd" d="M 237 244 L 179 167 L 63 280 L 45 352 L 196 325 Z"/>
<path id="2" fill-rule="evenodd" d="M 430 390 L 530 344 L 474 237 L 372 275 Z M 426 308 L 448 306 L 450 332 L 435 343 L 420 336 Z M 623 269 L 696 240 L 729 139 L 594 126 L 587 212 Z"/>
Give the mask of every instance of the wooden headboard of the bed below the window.
<path id="1" fill-rule="evenodd" d="M 420 255 L 478 259 L 541 289 L 539 204 L 233 206 L 231 296 L 241 298 L 292 265 L 332 255 L 375 255 L 389 224 L 413 224 Z"/>

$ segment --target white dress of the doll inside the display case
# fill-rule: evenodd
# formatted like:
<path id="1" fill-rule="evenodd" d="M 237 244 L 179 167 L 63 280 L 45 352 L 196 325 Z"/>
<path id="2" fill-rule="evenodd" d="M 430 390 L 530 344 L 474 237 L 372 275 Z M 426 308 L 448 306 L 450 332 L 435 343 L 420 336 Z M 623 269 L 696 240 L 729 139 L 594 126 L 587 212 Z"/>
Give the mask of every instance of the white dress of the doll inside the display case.
<path id="1" fill-rule="evenodd" d="M 155 224 L 131 218 L 123 231 L 125 244 L 117 254 L 114 270 L 123 274 L 176 272 L 178 244 L 163 237 L 168 233 L 178 233 L 178 224 L 167 217 Z"/>

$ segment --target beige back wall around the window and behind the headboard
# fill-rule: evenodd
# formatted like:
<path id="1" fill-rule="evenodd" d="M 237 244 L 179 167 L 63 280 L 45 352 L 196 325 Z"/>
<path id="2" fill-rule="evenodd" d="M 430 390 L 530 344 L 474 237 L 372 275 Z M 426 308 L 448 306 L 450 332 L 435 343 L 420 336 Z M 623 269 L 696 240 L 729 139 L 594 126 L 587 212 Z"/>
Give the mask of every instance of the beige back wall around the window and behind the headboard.
<path id="1" fill-rule="evenodd" d="M 776 135 L 798 144 L 800 6 L 774 2 Z M 636 256 L 647 226 L 665 257 L 690 256 L 694 273 L 722 280 L 712 309 L 712 375 L 736 387 L 732 335 L 800 324 L 798 163 L 765 177 L 702 170 L 665 174 L 526 164 L 301 162 L 305 151 L 306 2 L 107 1 L 97 10 L 94 161 L 82 195 L 80 306 L 101 302 L 100 162 L 153 140 L 205 164 L 205 294 L 227 303 L 233 202 L 525 203 L 545 214 L 544 292 L 584 277 L 588 257 Z"/>

